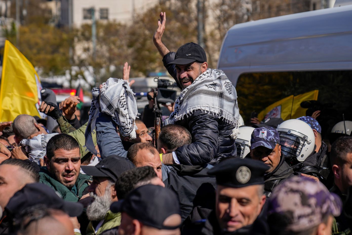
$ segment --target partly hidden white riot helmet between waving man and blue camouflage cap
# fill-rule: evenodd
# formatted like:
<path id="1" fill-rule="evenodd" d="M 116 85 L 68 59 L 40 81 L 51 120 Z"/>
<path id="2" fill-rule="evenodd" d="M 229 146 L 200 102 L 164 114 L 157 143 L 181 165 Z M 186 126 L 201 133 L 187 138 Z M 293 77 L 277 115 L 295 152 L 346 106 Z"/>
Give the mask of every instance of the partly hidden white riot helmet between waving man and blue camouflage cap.
<path id="1" fill-rule="evenodd" d="M 239 128 L 239 134 L 235 139 L 235 144 L 237 148 L 237 156 L 240 158 L 245 158 L 249 154 L 251 147 L 251 136 L 254 128 L 250 126 L 241 126 Z"/>

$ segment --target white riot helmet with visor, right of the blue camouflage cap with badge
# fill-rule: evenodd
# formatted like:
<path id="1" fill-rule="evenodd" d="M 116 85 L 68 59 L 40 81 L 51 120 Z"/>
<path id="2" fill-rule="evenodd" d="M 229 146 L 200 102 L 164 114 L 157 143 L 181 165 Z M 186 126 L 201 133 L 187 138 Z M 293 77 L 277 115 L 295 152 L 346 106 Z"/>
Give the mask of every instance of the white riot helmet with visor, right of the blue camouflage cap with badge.
<path id="1" fill-rule="evenodd" d="M 315 136 L 312 128 L 302 120 L 290 119 L 277 127 L 280 135 L 281 154 L 303 162 L 313 153 Z"/>

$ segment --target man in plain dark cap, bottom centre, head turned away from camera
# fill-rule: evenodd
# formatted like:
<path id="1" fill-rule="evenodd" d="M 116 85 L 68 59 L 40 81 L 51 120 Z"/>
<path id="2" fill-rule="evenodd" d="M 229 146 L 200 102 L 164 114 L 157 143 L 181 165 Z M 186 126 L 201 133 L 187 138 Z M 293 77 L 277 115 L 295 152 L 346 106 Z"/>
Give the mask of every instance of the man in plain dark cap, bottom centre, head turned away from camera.
<path id="1" fill-rule="evenodd" d="M 159 185 L 143 185 L 130 192 L 124 200 L 111 205 L 121 212 L 119 235 L 179 235 L 180 206 L 177 196 Z"/>

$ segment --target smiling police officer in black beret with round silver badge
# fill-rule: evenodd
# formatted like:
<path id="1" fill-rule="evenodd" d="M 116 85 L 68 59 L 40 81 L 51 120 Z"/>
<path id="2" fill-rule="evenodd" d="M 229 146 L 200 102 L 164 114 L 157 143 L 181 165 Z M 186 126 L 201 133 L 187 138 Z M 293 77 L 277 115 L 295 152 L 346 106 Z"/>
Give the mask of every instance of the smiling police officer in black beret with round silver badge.
<path id="1" fill-rule="evenodd" d="M 215 210 L 204 221 L 198 221 L 182 234 L 251 234 L 262 211 L 264 173 L 268 166 L 252 159 L 233 158 L 220 162 L 208 174 L 215 175 Z"/>

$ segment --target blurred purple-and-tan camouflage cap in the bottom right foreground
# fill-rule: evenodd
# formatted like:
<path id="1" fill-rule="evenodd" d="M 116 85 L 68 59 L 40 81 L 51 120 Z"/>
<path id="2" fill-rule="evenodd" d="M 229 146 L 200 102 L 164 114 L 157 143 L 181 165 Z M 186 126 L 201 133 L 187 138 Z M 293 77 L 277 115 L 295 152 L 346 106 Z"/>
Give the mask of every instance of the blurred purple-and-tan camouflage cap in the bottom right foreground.
<path id="1" fill-rule="evenodd" d="M 314 228 L 329 216 L 339 216 L 342 201 L 320 182 L 307 177 L 291 177 L 279 184 L 269 199 L 268 216 L 286 219 L 289 231 Z"/>

